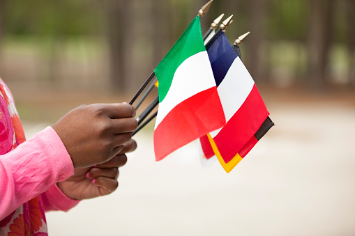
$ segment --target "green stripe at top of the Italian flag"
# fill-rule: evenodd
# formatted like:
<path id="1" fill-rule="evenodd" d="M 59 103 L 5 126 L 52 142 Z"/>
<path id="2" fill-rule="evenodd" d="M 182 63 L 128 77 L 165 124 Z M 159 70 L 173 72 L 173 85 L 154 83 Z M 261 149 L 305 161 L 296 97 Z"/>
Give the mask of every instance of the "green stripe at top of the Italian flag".
<path id="1" fill-rule="evenodd" d="M 190 56 L 203 51 L 206 51 L 206 47 L 204 47 L 202 38 L 201 22 L 197 16 L 154 70 L 159 81 L 159 102 L 162 102 L 167 95 L 175 71 L 181 63 Z"/>

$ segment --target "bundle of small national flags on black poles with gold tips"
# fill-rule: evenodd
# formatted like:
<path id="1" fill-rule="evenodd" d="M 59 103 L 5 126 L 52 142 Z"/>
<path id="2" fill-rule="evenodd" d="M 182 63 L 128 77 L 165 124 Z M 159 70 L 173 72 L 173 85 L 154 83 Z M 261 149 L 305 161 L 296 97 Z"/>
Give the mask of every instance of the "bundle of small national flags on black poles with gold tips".
<path id="1" fill-rule="evenodd" d="M 220 24 L 222 14 L 202 36 L 200 17 L 207 13 L 211 3 L 199 10 L 199 15 L 130 101 L 133 104 L 149 86 L 137 102 L 137 109 L 158 87 L 156 99 L 137 118 L 139 127 L 133 135 L 156 117 L 153 134 L 156 161 L 198 139 L 202 166 L 206 168 L 218 159 L 229 173 L 274 124 L 241 61 L 239 45 L 249 33 L 230 45 L 225 31 L 233 16 Z M 144 122 L 157 105 L 158 111 Z"/>

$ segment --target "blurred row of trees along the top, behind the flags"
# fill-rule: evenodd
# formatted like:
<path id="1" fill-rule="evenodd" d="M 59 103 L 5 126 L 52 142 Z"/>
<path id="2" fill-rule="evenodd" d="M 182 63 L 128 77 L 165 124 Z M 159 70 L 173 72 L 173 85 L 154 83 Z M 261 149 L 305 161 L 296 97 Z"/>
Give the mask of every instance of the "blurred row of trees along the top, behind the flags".
<path id="1" fill-rule="evenodd" d="M 0 53 L 6 38 L 45 39 L 46 77 L 55 82 L 70 38 L 103 38 L 109 86 L 135 91 L 206 1 L 0 0 Z M 230 42 L 251 32 L 241 51 L 255 81 L 291 77 L 293 84 L 322 89 L 333 83 L 335 49 L 341 48 L 347 64 L 342 83 L 355 85 L 354 0 L 215 0 L 202 18 L 202 31 L 221 13 L 234 14 Z"/>

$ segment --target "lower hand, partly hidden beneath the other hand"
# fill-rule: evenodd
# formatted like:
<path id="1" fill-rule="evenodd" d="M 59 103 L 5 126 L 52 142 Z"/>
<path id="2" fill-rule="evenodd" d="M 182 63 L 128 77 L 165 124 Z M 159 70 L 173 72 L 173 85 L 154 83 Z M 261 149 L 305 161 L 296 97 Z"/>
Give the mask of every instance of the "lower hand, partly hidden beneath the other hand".
<path id="1" fill-rule="evenodd" d="M 119 187 L 118 168 L 127 162 L 125 153 L 133 152 L 135 148 L 137 148 L 137 143 L 131 139 L 123 145 L 123 150 L 108 162 L 98 164 L 96 167 L 76 168 L 74 175 L 56 184 L 68 198 L 77 200 L 111 194 Z M 89 173 L 89 178 L 86 178 L 87 173 Z"/>

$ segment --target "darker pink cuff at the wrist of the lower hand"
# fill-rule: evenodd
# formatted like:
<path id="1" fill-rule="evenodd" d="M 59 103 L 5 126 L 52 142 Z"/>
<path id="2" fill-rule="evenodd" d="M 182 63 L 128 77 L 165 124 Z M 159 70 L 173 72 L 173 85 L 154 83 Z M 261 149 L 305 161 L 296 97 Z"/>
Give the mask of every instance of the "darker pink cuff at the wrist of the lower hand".
<path id="1" fill-rule="evenodd" d="M 73 200 L 68 198 L 61 190 L 54 184 L 50 189 L 41 194 L 43 207 L 45 212 L 51 210 L 61 210 L 68 212 L 71 208 L 75 207 L 80 200 Z"/>

